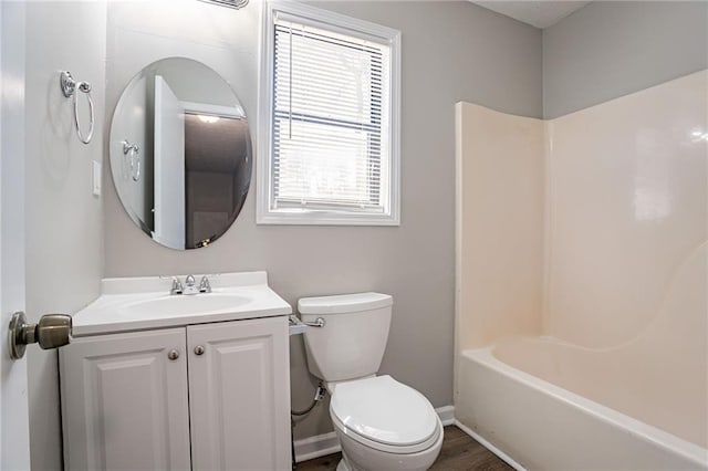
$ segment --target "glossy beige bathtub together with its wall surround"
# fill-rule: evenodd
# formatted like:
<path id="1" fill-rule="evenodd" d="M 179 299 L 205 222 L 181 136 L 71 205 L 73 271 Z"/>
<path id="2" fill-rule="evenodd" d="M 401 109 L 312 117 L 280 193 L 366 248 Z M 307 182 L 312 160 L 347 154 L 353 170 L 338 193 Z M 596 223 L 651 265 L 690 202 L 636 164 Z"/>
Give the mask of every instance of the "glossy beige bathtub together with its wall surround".
<path id="1" fill-rule="evenodd" d="M 708 469 L 707 83 L 702 71 L 543 123 L 545 172 L 520 177 L 509 159 L 540 158 L 528 118 L 458 104 L 456 418 L 524 467 Z M 542 198 L 519 197 L 533 185 Z M 485 219 L 503 191 L 508 218 Z M 513 238 L 539 237 L 540 262 L 500 263 Z"/>

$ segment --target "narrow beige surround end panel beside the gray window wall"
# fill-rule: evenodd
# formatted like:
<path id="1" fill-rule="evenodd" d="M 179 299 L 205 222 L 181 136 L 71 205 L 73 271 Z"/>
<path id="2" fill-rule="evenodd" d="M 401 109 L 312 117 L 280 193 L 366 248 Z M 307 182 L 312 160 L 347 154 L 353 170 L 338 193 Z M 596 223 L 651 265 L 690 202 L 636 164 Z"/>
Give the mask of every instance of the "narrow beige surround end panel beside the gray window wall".
<path id="1" fill-rule="evenodd" d="M 456 106 L 458 349 L 542 326 L 543 121 Z"/>

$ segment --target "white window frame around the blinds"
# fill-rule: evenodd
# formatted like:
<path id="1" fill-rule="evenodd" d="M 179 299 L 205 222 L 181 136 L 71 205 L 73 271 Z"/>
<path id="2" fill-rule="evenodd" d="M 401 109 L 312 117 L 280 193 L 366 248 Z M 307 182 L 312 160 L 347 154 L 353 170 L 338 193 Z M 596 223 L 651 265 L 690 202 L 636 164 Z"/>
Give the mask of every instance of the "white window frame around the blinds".
<path id="1" fill-rule="evenodd" d="M 346 17 L 294 1 L 263 2 L 261 43 L 261 76 L 259 80 L 259 119 L 257 153 L 257 217 L 258 224 L 298 226 L 400 226 L 400 32 L 368 21 Z M 294 17 L 311 24 L 364 39 L 375 39 L 391 48 L 391 112 L 389 112 L 389 207 L 381 213 L 361 209 L 273 209 L 273 80 L 275 17 Z"/>

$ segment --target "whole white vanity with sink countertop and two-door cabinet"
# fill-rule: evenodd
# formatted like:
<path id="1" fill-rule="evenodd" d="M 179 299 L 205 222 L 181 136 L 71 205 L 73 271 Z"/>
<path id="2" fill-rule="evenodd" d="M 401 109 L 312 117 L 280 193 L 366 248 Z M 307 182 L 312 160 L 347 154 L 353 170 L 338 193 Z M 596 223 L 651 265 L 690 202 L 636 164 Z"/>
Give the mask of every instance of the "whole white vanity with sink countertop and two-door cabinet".
<path id="1" fill-rule="evenodd" d="M 199 276 L 197 278 L 197 280 Z M 266 272 L 103 280 L 60 350 L 67 470 L 291 468 L 291 306 Z"/>

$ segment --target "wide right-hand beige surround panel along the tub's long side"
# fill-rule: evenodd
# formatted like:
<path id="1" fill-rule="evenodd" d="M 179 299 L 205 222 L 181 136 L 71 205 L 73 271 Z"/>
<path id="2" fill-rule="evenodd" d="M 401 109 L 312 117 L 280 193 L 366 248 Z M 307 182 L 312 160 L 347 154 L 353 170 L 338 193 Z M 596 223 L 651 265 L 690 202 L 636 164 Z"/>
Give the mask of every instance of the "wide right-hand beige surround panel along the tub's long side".
<path id="1" fill-rule="evenodd" d="M 602 348 L 656 321 L 708 238 L 707 103 L 699 72 L 548 122 L 545 333 Z M 670 314 L 675 328 L 685 315 Z M 705 328 L 685 334 L 685 346 L 705 348 Z"/>

